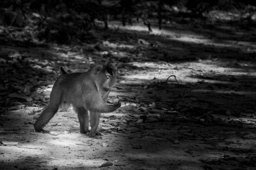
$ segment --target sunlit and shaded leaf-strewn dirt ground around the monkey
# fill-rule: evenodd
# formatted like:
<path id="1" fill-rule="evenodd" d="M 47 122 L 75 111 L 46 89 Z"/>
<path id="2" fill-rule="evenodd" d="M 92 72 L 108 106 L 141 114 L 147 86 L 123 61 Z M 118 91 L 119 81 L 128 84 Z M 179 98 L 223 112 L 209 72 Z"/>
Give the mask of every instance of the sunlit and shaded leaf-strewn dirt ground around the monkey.
<path id="1" fill-rule="evenodd" d="M 95 45 L 0 46 L 4 88 L 22 92 L 1 90 L 10 103 L 1 108 L 1 169 L 255 169 L 253 32 L 243 40 L 241 31 L 193 25 L 155 35 L 139 28 L 100 33 L 106 40 Z M 52 118 L 51 134 L 34 131 L 60 66 L 79 72 L 108 60 L 119 68 L 110 98 L 122 107 L 102 114 L 104 136 L 80 134 L 72 109 Z"/>

